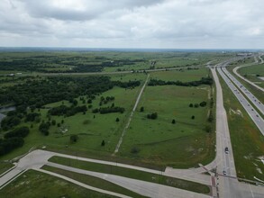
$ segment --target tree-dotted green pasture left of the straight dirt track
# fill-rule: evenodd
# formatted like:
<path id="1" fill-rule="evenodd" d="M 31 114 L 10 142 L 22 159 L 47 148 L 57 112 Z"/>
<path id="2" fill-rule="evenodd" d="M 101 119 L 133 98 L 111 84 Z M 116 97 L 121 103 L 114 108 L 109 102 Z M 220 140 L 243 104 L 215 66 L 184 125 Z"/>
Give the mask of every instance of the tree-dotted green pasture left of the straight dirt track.
<path id="1" fill-rule="evenodd" d="M 114 112 L 107 114 L 92 113 L 92 110 L 88 110 L 86 114 L 82 112 L 77 113 L 74 116 L 51 116 L 50 120 L 55 120 L 57 123 L 64 121 L 61 124 L 62 127 L 50 126 L 50 135 L 43 136 L 38 130 L 40 123 L 28 122 L 22 123 L 19 126 L 28 126 L 31 128 L 31 132 L 26 137 L 25 143 L 22 148 L 14 149 L 13 152 L 1 157 L 1 159 L 11 159 L 20 155 L 23 155 L 31 148 L 64 148 L 76 151 L 88 151 L 93 152 L 105 152 L 106 155 L 110 155 L 114 152 L 114 148 L 123 130 L 123 125 L 126 123 L 127 117 L 132 111 L 132 107 L 135 103 L 137 94 L 141 87 L 135 87 L 134 89 L 123 89 L 120 87 L 114 87 L 112 90 L 105 92 L 104 94 L 96 96 L 96 100 L 93 101 L 93 108 L 99 107 L 100 97 L 102 95 L 114 96 L 115 100 L 111 103 L 103 104 L 104 106 L 115 104 L 115 106 L 121 106 L 125 108 L 125 112 Z M 61 105 L 62 102 L 50 103 L 46 106 L 54 107 Z M 64 101 L 65 105 L 69 105 L 67 101 Z M 79 105 L 83 105 L 78 100 Z M 36 110 L 36 112 L 38 112 Z M 48 121 L 47 112 L 48 109 L 41 109 L 41 120 Z M 94 118 L 95 116 L 95 118 Z M 116 118 L 120 121 L 116 122 Z M 62 133 L 62 130 L 67 130 Z M 69 137 L 72 134 L 77 134 L 78 139 L 76 143 L 70 143 Z M 101 142 L 105 140 L 105 146 L 101 146 Z"/>

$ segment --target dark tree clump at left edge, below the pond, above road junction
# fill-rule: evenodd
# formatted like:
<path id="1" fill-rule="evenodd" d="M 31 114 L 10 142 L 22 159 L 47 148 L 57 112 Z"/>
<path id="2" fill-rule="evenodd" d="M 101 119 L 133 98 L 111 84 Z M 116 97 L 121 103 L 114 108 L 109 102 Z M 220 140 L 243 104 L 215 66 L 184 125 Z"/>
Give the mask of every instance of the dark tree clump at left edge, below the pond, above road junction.
<path id="1" fill-rule="evenodd" d="M 26 137 L 29 132 L 30 130 L 28 127 L 21 127 L 5 133 L 5 139 L 0 139 L 0 156 L 9 153 L 14 148 L 22 147 L 24 143 L 23 138 Z"/>

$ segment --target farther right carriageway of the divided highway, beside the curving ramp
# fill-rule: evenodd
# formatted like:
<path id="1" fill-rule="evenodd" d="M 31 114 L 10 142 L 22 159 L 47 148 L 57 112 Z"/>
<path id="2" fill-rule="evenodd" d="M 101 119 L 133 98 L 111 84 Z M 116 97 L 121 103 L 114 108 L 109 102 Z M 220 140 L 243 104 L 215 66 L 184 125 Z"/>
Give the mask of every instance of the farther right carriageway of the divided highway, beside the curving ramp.
<path id="1" fill-rule="evenodd" d="M 253 103 L 258 109 L 259 112 L 261 112 L 264 115 L 264 105 L 259 101 L 259 99 L 252 94 L 244 85 L 241 84 L 232 74 L 226 69 L 226 67 L 222 67 L 223 73 L 228 76 L 231 80 L 232 83 L 234 83 L 238 89 L 245 94 L 248 99 L 250 99 L 250 102 Z"/>

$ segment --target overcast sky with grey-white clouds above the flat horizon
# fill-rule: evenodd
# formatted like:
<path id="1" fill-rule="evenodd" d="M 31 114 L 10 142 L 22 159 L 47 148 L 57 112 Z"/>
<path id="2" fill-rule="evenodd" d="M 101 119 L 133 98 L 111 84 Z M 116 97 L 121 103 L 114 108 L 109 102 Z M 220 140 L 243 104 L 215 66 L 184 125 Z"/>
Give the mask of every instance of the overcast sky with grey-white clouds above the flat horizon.
<path id="1" fill-rule="evenodd" d="M 0 46 L 264 49 L 264 0 L 0 0 Z"/>

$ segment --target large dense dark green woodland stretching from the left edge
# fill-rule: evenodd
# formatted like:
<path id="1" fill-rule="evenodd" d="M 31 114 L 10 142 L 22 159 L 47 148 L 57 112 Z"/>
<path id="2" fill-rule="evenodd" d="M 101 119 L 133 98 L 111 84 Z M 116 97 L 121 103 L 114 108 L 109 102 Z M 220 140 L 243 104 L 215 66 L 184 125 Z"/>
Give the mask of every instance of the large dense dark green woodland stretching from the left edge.
<path id="1" fill-rule="evenodd" d="M 25 111 L 28 106 L 40 108 L 47 103 L 70 100 L 83 94 L 101 94 L 113 87 L 109 76 L 52 76 L 0 89 L 0 103 L 14 103 L 17 109 L 22 107 Z"/>

